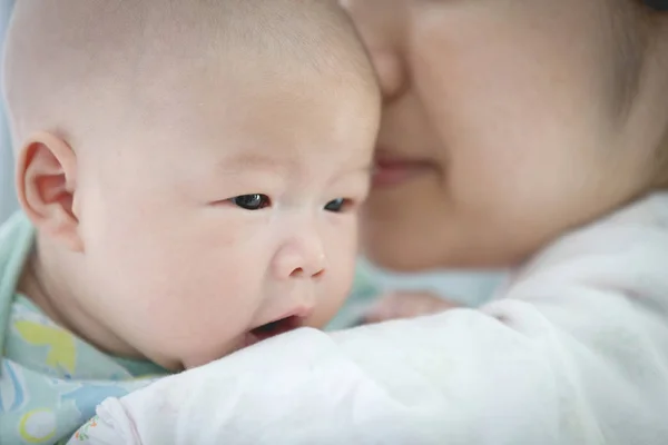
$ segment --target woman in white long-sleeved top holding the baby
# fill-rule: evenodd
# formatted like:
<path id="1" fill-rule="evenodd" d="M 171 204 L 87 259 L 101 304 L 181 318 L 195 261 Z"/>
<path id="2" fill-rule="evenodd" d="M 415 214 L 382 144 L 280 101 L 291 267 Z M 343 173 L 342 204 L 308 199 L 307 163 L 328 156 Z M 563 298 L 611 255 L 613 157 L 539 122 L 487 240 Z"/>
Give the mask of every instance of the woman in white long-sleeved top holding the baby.
<path id="1" fill-rule="evenodd" d="M 186 400 L 215 394 L 190 419 L 217 427 L 189 443 L 668 443 L 668 16 L 631 0 L 343 3 L 385 98 L 365 254 L 522 267 L 481 310 L 297 330 L 186 373 Z M 156 394 L 173 382 L 102 413 L 157 422 L 146 406 L 170 409 Z"/>

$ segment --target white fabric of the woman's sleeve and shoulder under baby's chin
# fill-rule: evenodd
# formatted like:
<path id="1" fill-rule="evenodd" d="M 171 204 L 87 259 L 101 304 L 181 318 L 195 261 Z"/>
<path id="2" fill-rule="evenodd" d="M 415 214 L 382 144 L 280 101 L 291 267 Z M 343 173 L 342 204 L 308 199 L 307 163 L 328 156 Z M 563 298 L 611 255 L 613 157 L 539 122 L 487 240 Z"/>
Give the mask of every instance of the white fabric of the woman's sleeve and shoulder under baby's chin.
<path id="1" fill-rule="evenodd" d="M 482 310 L 297 330 L 108 399 L 89 441 L 665 445 L 667 317 L 661 195 L 563 237 Z"/>

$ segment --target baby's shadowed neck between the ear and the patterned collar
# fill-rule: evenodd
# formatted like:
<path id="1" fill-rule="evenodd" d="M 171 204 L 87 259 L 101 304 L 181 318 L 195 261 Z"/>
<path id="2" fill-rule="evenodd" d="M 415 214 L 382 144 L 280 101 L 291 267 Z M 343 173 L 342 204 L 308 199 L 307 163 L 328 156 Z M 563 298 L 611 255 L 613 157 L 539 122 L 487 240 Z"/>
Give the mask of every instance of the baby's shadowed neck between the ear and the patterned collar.
<path id="1" fill-rule="evenodd" d="M 102 323 L 104 314 L 87 310 L 95 298 L 82 265 L 73 254 L 62 253 L 38 236 L 36 249 L 23 267 L 18 291 L 51 320 L 110 355 L 143 358 Z"/>

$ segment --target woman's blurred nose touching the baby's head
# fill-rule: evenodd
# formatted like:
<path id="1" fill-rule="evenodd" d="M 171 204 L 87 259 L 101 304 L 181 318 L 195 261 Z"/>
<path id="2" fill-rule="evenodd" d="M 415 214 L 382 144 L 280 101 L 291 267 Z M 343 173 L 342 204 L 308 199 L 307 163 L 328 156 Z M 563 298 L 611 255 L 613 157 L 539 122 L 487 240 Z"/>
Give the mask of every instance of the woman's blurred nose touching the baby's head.
<path id="1" fill-rule="evenodd" d="M 401 48 L 407 26 L 405 0 L 341 0 L 371 56 L 385 101 L 401 95 L 406 69 Z"/>

